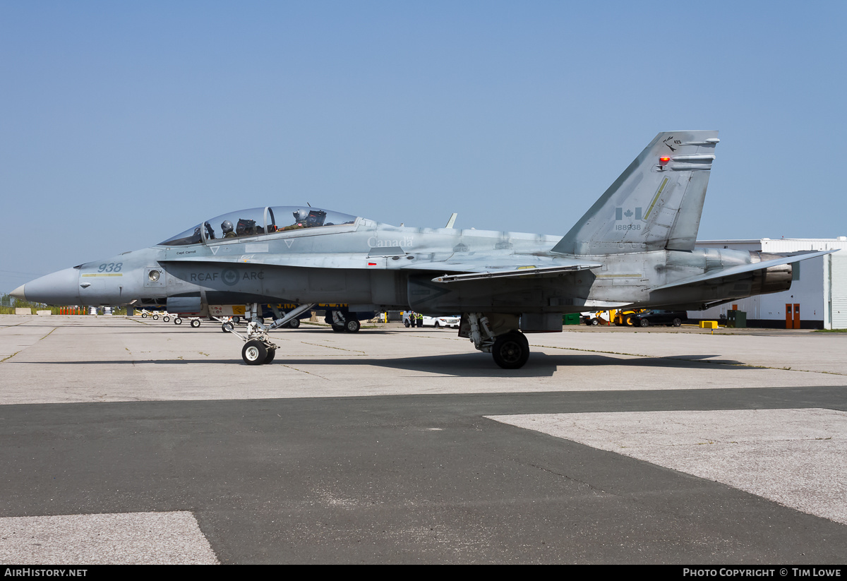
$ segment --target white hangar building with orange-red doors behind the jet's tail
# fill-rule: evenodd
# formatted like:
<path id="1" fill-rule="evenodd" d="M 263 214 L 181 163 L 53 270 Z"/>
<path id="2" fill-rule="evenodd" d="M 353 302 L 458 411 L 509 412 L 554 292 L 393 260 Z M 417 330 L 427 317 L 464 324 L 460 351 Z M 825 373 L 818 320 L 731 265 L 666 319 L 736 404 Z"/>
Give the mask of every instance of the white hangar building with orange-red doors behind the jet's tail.
<path id="1" fill-rule="evenodd" d="M 841 249 L 794 264 L 791 288 L 771 295 L 750 296 L 706 311 L 689 311 L 691 318 L 717 320 L 737 306 L 747 313 L 747 326 L 773 329 L 847 329 L 847 236 L 807 239 L 697 241 L 705 248 L 758 252 L 800 252 Z M 796 315 L 800 311 L 800 316 Z"/>

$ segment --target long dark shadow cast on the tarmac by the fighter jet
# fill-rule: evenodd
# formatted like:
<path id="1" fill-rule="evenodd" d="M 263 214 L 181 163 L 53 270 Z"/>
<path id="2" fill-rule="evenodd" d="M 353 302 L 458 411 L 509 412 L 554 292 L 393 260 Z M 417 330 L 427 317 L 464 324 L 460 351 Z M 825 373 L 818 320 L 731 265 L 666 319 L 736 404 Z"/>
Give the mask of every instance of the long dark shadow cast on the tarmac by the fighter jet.
<path id="1" fill-rule="evenodd" d="M 549 355 L 547 353 L 533 353 L 529 362 L 521 368 L 504 371 L 495 367 L 490 357 L 484 353 L 457 353 L 450 355 L 429 355 L 423 357 L 285 357 L 278 356 L 270 365 L 296 365 L 296 366 L 370 366 L 374 368 L 390 368 L 399 371 L 413 371 L 422 373 L 438 373 L 440 375 L 451 375 L 455 377 L 491 377 L 491 378 L 523 378 L 523 377 L 551 377 L 557 370 L 567 371 L 568 368 L 579 367 L 626 367 L 626 368 L 670 368 L 670 369 L 720 369 L 750 368 L 745 362 L 728 359 L 710 359 L 707 362 L 699 361 L 714 357 L 710 355 L 691 355 L 675 357 L 612 357 L 601 354 L 573 354 L 573 355 Z M 15 362 L 33 364 L 32 362 Z M 245 363 L 233 359 L 141 359 L 135 361 L 47 361 L 37 362 L 37 365 L 59 364 L 105 364 L 105 365 L 189 365 L 189 364 L 212 364 L 212 365 L 240 365 L 248 368 Z M 267 366 L 256 366 L 263 369 Z"/>

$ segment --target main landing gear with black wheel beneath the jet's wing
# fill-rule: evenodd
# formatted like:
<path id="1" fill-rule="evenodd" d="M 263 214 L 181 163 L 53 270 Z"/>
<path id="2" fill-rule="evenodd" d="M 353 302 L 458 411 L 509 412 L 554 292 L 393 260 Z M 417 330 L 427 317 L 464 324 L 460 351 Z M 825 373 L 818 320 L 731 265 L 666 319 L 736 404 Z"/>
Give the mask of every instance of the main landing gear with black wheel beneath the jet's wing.
<path id="1" fill-rule="evenodd" d="M 483 313 L 466 313 L 462 316 L 459 336 L 468 337 L 473 346 L 491 353 L 494 362 L 504 369 L 519 369 L 529 360 L 529 340 L 518 330 L 518 318 L 500 315 L 496 324 Z M 493 329 L 500 331 L 495 333 Z"/>

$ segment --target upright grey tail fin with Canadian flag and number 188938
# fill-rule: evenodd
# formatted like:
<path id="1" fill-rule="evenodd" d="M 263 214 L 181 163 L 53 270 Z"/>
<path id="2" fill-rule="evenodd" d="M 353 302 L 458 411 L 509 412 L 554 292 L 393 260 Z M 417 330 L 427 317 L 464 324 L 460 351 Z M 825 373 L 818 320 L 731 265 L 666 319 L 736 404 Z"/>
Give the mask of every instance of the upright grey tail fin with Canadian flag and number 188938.
<path id="1" fill-rule="evenodd" d="M 553 252 L 693 249 L 718 141 L 717 131 L 657 135 Z"/>

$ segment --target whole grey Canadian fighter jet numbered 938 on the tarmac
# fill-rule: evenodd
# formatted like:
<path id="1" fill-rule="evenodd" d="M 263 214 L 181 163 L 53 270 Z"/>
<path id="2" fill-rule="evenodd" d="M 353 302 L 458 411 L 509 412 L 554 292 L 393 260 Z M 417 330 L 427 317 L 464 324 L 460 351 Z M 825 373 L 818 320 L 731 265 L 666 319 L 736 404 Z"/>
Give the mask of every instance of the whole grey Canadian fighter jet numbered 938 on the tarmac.
<path id="1" fill-rule="evenodd" d="M 356 313 L 462 313 L 459 335 L 502 368 L 529 357 L 527 333 L 562 313 L 696 310 L 786 290 L 797 256 L 695 248 L 717 131 L 660 133 L 564 236 L 407 228 L 309 207 L 251 208 L 155 246 L 47 274 L 13 296 L 51 304 L 163 306 L 248 314 L 241 355 L 268 363 L 268 332 L 318 303 Z M 452 219 L 451 219 L 452 222 Z M 449 223 L 448 226 L 452 224 Z M 296 303 L 264 324 L 263 303 Z M 355 329 L 351 329 L 355 330 Z"/>

